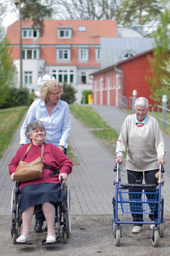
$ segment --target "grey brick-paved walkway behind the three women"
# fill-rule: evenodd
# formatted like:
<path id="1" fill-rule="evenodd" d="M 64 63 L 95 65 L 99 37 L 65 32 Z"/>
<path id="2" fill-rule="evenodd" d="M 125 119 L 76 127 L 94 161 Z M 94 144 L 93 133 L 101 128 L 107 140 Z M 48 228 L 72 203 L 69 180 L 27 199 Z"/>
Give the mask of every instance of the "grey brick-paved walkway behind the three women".
<path id="1" fill-rule="evenodd" d="M 126 114 L 116 107 L 92 105 L 103 119 L 117 132 L 126 117 Z M 19 130 L 0 161 L 0 215 L 10 215 L 10 198 L 14 183 L 8 175 L 8 163 L 18 149 Z M 74 166 L 68 182 L 71 188 L 71 213 L 74 214 L 112 214 L 112 196 L 114 195 L 115 174 L 114 152 L 110 153 L 74 116 L 71 116 L 71 135 L 69 142 L 78 157 L 78 165 Z M 166 143 L 170 144 L 167 139 Z M 168 144 L 167 144 L 168 145 Z M 169 147 L 167 147 L 169 149 Z M 169 152 L 167 153 L 167 155 Z M 169 159 L 167 157 L 165 186 L 162 195 L 165 198 L 165 212 L 170 213 L 170 177 Z M 122 176 L 126 179 L 126 174 Z"/>

